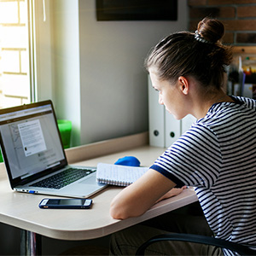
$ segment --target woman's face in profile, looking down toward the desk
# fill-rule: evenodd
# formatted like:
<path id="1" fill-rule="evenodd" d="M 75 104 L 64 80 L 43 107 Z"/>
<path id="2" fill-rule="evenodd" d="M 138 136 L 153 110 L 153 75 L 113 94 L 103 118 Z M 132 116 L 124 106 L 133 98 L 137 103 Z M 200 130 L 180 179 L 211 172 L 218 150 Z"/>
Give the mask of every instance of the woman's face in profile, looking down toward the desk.
<path id="1" fill-rule="evenodd" d="M 187 113 L 184 113 L 183 94 L 178 83 L 171 84 L 167 80 L 160 80 L 154 69 L 149 69 L 149 76 L 154 89 L 159 92 L 160 105 L 165 105 L 166 110 L 172 113 L 175 119 L 183 119 Z"/>

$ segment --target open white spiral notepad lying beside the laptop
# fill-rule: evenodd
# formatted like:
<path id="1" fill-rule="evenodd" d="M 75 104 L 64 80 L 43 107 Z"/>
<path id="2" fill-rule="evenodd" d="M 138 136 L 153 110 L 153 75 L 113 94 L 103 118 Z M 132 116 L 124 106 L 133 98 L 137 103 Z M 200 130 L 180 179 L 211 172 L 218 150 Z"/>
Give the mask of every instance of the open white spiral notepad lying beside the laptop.
<path id="1" fill-rule="evenodd" d="M 142 177 L 148 167 L 118 166 L 99 163 L 97 165 L 96 179 L 99 183 L 116 186 L 128 186 Z"/>

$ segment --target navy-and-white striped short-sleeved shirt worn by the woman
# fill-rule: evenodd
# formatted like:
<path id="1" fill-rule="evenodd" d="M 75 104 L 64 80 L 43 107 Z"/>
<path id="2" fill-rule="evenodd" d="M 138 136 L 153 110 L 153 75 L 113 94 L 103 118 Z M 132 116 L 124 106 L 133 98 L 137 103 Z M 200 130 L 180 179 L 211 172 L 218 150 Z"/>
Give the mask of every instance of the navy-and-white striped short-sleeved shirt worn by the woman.
<path id="1" fill-rule="evenodd" d="M 256 249 L 256 102 L 233 99 L 213 104 L 151 169 L 195 187 L 216 237 Z"/>

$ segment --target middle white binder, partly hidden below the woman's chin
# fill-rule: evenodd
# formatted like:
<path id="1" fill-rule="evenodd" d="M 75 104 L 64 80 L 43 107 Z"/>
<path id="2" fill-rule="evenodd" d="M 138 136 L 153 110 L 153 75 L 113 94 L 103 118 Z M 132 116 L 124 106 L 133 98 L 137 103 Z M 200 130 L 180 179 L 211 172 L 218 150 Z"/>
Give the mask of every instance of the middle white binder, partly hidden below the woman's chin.
<path id="1" fill-rule="evenodd" d="M 171 113 L 166 111 L 165 113 L 165 134 L 166 134 L 166 143 L 165 147 L 168 148 L 181 136 L 181 121 L 173 117 Z"/>

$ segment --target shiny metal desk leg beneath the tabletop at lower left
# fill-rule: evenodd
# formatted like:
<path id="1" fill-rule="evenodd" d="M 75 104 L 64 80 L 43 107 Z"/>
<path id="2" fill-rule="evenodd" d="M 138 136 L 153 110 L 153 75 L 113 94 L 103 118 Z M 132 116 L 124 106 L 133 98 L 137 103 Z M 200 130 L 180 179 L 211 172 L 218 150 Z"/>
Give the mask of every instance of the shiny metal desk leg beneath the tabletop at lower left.
<path id="1" fill-rule="evenodd" d="M 42 255 L 42 237 L 27 230 L 20 230 L 20 255 Z"/>

